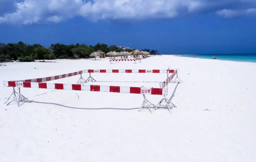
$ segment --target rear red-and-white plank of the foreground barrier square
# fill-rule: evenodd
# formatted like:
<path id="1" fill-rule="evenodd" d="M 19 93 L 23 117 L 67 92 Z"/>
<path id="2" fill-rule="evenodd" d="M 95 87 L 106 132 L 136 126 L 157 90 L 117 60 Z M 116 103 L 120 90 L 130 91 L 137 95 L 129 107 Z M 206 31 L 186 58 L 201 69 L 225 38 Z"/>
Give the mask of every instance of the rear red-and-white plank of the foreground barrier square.
<path id="1" fill-rule="evenodd" d="M 83 70 L 84 73 L 174 73 L 174 70 L 132 70 L 132 69 L 126 69 L 126 70 L 118 70 L 118 69 L 86 69 Z"/>

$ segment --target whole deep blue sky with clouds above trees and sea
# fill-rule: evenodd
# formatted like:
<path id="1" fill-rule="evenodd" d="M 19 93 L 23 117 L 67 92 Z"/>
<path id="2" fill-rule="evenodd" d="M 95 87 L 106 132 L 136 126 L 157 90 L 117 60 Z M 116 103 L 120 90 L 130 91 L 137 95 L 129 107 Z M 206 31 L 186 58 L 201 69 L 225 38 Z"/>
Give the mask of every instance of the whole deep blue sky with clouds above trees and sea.
<path id="1" fill-rule="evenodd" d="M 0 42 L 256 53 L 256 0 L 0 0 Z"/>

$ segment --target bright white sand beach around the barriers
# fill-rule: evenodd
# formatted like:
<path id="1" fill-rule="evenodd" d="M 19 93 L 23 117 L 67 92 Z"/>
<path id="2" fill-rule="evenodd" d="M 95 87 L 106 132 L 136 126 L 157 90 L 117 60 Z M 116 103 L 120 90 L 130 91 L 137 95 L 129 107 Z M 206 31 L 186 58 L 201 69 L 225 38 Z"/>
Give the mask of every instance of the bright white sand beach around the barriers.
<path id="1" fill-rule="evenodd" d="M 164 55 L 137 64 L 109 64 L 108 58 L 52 61 L 56 62 L 0 63 L 1 162 L 256 160 L 256 63 Z M 141 94 L 34 88 L 21 88 L 31 103 L 4 104 L 12 87 L 4 87 L 3 81 L 83 69 L 168 67 L 179 69 L 183 81 L 168 84 L 167 98 L 177 106 L 172 113 L 138 112 Z M 89 74 L 82 76 L 87 79 Z M 160 88 L 166 74 L 93 73 L 92 77 L 112 82 L 85 84 Z M 49 83 L 76 84 L 79 78 Z M 157 104 L 162 96 L 146 98 Z"/>

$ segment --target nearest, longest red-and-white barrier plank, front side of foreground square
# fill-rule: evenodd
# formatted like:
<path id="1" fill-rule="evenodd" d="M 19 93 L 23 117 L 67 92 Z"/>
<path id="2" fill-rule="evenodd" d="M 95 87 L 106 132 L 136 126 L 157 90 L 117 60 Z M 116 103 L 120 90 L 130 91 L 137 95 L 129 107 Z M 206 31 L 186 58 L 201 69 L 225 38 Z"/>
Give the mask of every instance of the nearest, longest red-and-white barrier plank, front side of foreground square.
<path id="1" fill-rule="evenodd" d="M 62 83 L 4 81 L 4 86 L 18 87 L 18 88 L 23 87 L 23 88 L 116 92 L 116 93 L 152 94 L 152 95 L 168 94 L 168 89 L 163 89 L 163 88 L 120 87 L 120 86 L 106 86 L 106 85 L 85 85 L 85 84 L 81 85 L 81 84 L 62 84 Z"/>

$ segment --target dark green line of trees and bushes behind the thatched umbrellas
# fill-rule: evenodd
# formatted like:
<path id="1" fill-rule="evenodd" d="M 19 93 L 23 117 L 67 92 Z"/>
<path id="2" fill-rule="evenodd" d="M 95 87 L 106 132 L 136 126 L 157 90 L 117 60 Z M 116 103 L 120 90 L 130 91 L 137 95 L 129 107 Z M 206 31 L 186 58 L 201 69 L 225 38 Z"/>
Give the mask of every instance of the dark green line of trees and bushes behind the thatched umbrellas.
<path id="1" fill-rule="evenodd" d="M 131 52 L 134 49 L 123 50 L 116 45 L 108 46 L 106 44 L 97 43 L 95 46 L 86 44 L 51 44 L 46 48 L 40 44 L 27 45 L 22 41 L 18 43 L 0 43 L 0 62 L 11 62 L 12 60 L 19 62 L 34 62 L 35 60 L 51 60 L 51 59 L 79 59 L 89 58 L 89 55 L 101 50 L 105 53 L 109 51 L 127 51 Z M 150 52 L 152 55 L 157 55 L 157 50 L 143 49 Z"/>

